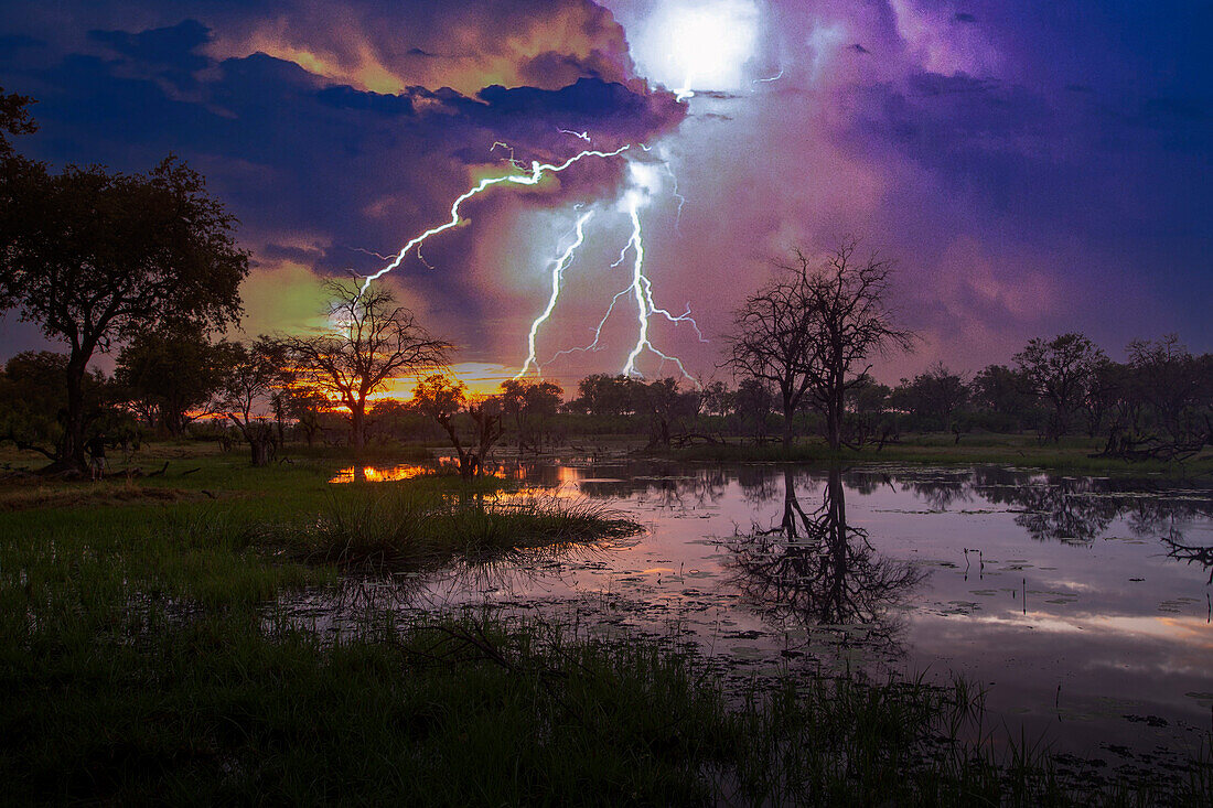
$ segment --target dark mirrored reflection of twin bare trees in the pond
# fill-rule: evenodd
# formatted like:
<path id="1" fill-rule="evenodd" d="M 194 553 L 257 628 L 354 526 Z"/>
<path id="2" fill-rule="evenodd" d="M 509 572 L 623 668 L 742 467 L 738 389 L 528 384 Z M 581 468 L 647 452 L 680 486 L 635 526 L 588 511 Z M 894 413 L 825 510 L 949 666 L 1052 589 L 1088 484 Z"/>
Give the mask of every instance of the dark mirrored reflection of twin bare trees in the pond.
<path id="1" fill-rule="evenodd" d="M 847 524 L 842 470 L 832 467 L 822 502 L 805 511 L 792 470 L 784 471 L 784 514 L 730 545 L 735 584 L 768 615 L 805 626 L 862 626 L 867 642 L 892 642 L 892 607 L 922 581 L 915 565 L 884 558 L 867 531 Z"/>

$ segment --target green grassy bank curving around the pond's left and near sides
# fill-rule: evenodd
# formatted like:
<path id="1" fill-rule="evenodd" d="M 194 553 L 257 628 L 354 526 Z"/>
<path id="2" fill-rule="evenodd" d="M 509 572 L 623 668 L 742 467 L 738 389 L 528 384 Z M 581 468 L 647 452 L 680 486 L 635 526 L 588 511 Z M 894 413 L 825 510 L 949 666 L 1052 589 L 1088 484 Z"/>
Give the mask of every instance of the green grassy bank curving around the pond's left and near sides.
<path id="1" fill-rule="evenodd" d="M 6 803 L 1208 804 L 1207 758 L 1067 783 L 964 682 L 739 682 L 672 638 L 483 615 L 366 610 L 334 637 L 274 604 L 634 525 L 501 480 L 154 451 L 146 496 L 64 483 L 0 512 Z"/>

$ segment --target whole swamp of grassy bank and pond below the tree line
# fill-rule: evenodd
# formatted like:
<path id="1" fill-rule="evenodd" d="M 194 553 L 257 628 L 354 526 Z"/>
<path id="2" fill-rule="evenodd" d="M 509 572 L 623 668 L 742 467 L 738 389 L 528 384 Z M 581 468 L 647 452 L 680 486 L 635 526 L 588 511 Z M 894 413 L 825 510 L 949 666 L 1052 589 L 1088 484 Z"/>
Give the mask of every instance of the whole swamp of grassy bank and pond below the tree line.
<path id="1" fill-rule="evenodd" d="M 22 798 L 1208 800 L 1207 479 L 146 451 L 5 482 Z"/>

